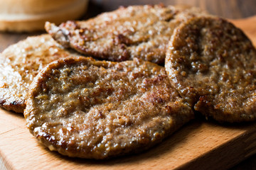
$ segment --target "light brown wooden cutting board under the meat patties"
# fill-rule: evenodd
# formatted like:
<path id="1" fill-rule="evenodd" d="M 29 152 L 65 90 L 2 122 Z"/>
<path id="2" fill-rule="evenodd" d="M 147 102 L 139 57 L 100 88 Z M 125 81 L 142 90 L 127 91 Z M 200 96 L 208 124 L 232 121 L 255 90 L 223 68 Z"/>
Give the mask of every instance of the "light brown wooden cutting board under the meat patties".
<path id="1" fill-rule="evenodd" d="M 256 45 L 256 16 L 232 21 Z M 256 123 L 193 120 L 142 154 L 106 161 L 50 152 L 30 134 L 23 115 L 0 109 L 0 169 L 228 169 L 256 153 Z"/>

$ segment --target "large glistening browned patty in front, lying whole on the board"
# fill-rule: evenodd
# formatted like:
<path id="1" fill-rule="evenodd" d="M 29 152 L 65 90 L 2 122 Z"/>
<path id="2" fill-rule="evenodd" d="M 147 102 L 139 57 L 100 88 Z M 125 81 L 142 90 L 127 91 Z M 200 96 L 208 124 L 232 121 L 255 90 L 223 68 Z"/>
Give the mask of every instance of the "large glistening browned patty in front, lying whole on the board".
<path id="1" fill-rule="evenodd" d="M 86 57 L 42 69 L 24 115 L 31 133 L 50 150 L 92 159 L 140 152 L 193 118 L 164 67 Z"/>

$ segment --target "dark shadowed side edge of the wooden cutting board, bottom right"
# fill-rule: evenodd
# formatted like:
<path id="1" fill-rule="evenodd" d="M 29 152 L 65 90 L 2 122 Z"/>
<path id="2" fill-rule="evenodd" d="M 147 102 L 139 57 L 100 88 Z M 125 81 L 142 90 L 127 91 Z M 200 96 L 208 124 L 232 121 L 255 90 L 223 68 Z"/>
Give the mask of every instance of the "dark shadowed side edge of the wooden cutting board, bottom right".
<path id="1" fill-rule="evenodd" d="M 248 128 L 249 129 L 249 128 Z M 245 147 L 247 146 L 247 147 Z M 223 150 L 235 151 L 232 154 L 225 152 L 221 153 Z M 234 150 L 235 148 L 235 150 Z M 251 151 L 250 149 L 253 149 Z M 238 151 L 239 150 L 239 151 Z M 220 147 L 217 147 L 210 152 L 206 152 L 206 154 L 201 155 L 201 157 L 197 157 L 196 159 L 191 160 L 186 164 L 179 166 L 175 170 L 185 170 L 185 169 L 229 169 L 240 162 L 244 161 L 248 157 L 252 156 L 252 154 L 256 153 L 256 124 L 252 124 L 252 128 L 246 130 L 245 133 L 238 135 L 232 140 L 225 142 Z M 232 158 L 230 159 L 230 155 Z M 215 159 L 218 158 L 218 159 Z M 235 161 L 234 161 L 235 160 Z M 205 162 L 206 164 L 200 164 L 200 162 Z M 211 164 L 207 164 L 211 162 Z M 212 163 L 213 162 L 213 163 Z M 219 164 L 219 163 L 222 164 Z M 216 166 L 211 166 L 215 164 Z M 203 165 L 203 168 L 202 168 Z"/>

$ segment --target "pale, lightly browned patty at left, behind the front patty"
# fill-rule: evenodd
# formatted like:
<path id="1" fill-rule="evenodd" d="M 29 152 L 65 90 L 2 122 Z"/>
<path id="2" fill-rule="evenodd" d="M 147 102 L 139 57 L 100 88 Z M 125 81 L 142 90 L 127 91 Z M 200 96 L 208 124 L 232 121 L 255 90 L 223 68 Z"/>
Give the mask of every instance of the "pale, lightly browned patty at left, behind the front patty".
<path id="1" fill-rule="evenodd" d="M 0 106 L 23 113 L 28 86 L 46 64 L 68 57 L 50 35 L 40 35 L 11 45 L 0 55 Z"/>

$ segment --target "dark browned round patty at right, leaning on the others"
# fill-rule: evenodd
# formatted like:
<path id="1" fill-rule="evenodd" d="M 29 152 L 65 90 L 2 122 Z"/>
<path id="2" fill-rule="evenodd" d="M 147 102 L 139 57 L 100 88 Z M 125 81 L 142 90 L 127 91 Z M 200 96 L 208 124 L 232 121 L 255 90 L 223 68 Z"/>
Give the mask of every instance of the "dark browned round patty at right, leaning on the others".
<path id="1" fill-rule="evenodd" d="M 256 50 L 232 23 L 213 17 L 183 23 L 171 37 L 165 68 L 179 94 L 206 118 L 255 120 Z"/>

